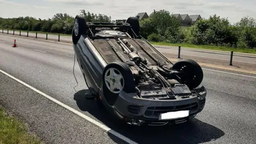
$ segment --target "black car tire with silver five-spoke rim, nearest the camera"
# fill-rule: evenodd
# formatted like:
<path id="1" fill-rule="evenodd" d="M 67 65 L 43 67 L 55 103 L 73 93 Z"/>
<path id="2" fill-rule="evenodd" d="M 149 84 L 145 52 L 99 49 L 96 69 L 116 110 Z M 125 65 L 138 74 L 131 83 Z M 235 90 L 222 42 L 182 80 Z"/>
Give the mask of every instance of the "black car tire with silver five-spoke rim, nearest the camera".
<path id="1" fill-rule="evenodd" d="M 118 74 L 118 76 L 109 77 L 107 78 L 110 74 L 110 70 L 113 70 L 115 74 Z M 102 73 L 102 87 L 103 87 L 103 94 L 104 98 L 106 99 L 108 105 L 113 106 L 118 98 L 118 95 L 121 91 L 124 91 L 126 93 L 135 93 L 135 81 L 133 78 L 133 74 L 131 69 L 123 62 L 111 62 L 109 63 L 103 70 Z M 122 77 L 122 78 L 120 78 Z M 111 80 L 110 80 L 111 78 Z M 108 80 L 106 80 L 108 79 Z M 118 79 L 120 81 L 118 82 Z M 111 83 L 109 83 L 109 81 Z M 110 90 L 110 84 L 120 84 L 122 89 L 118 89 L 119 91 L 111 91 Z"/>

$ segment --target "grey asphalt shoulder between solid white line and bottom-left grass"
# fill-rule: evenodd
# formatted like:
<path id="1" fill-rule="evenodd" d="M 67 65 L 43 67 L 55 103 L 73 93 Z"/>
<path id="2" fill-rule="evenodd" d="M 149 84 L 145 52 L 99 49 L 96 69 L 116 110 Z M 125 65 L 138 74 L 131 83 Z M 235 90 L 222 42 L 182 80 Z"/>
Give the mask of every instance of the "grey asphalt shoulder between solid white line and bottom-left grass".
<path id="1" fill-rule="evenodd" d="M 107 131 L 0 73 L 0 105 L 46 143 L 116 143 Z M 117 142 L 118 143 L 118 142 Z"/>

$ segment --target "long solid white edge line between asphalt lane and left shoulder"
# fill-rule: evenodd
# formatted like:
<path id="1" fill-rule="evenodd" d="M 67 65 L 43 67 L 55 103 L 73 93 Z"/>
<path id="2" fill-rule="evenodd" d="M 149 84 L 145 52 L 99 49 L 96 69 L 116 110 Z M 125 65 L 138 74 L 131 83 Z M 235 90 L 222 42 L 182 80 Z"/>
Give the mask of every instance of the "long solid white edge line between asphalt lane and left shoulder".
<path id="1" fill-rule="evenodd" d="M 31 90 L 33 90 L 33 91 L 35 91 L 35 92 L 37 92 L 37 93 L 43 95 L 45 98 L 47 98 L 47 99 L 49 99 L 49 100 L 51 100 L 51 101 L 57 103 L 58 105 L 60 105 L 60 106 L 62 106 L 62 107 L 64 107 L 64 108 L 66 108 L 66 109 L 68 109 L 69 111 L 72 111 L 72 112 L 75 113 L 76 115 L 83 117 L 83 118 L 86 119 L 87 121 L 89 121 L 89 122 L 91 122 L 91 123 L 93 123 L 93 124 L 99 126 L 101 129 L 103 129 L 103 130 L 105 130 L 105 131 L 108 131 L 109 133 L 115 135 L 115 136 L 118 137 L 119 139 L 122 139 L 122 140 L 124 140 L 125 142 L 128 142 L 128 143 L 137 143 L 137 142 L 132 141 L 132 140 L 129 139 L 129 138 L 126 138 L 124 135 L 122 135 L 122 134 L 120 134 L 120 133 L 118 133 L 118 132 L 116 132 L 116 131 L 114 131 L 114 130 L 111 130 L 111 129 L 110 129 L 109 127 L 107 127 L 106 125 L 103 125 L 103 124 L 101 124 L 101 123 L 95 121 L 94 119 L 92 119 L 92 118 L 90 118 L 90 117 L 84 115 L 83 113 L 80 113 L 79 111 L 77 111 L 77 110 L 75 110 L 75 109 L 73 109 L 73 108 L 71 108 L 71 107 L 65 105 L 64 103 L 62 103 L 62 102 L 60 102 L 60 101 L 58 101 L 58 100 L 56 100 L 56 99 L 50 97 L 49 95 L 47 95 L 47 94 L 45 94 L 45 93 L 43 93 L 43 92 L 41 92 L 41 91 L 35 89 L 35 87 L 30 86 L 30 85 L 26 84 L 25 82 L 20 81 L 18 78 L 15 78 L 14 76 L 11 76 L 11 75 L 5 73 L 5 71 L 3 71 L 3 70 L 0 69 L 0 72 L 3 73 L 3 74 L 5 74 L 6 76 L 11 77 L 11 78 L 14 79 L 15 81 L 17 81 L 17 82 L 19 82 L 19 83 L 21 83 L 21 84 L 27 86 L 29 89 L 31 89 Z"/>

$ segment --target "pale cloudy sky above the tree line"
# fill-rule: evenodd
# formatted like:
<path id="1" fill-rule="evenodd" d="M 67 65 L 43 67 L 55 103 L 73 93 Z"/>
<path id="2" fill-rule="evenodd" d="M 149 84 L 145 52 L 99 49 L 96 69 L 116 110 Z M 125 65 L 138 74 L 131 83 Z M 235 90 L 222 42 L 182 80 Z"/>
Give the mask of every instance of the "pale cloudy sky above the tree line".
<path id="1" fill-rule="evenodd" d="M 139 12 L 166 10 L 170 13 L 200 14 L 203 18 L 217 14 L 231 23 L 249 16 L 256 18 L 255 0 L 0 0 L 0 17 L 52 18 L 56 13 L 75 17 L 80 10 L 127 19 Z"/>

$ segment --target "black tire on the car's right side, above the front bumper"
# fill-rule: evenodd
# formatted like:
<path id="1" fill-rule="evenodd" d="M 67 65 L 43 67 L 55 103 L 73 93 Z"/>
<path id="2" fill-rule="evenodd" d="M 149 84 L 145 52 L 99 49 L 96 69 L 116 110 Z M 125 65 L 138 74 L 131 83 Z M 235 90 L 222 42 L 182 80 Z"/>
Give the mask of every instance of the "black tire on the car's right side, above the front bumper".
<path id="1" fill-rule="evenodd" d="M 197 62 L 191 59 L 183 59 L 174 63 L 172 69 L 180 71 L 178 76 L 181 78 L 181 82 L 186 84 L 189 89 L 195 89 L 203 81 L 203 70 Z"/>

